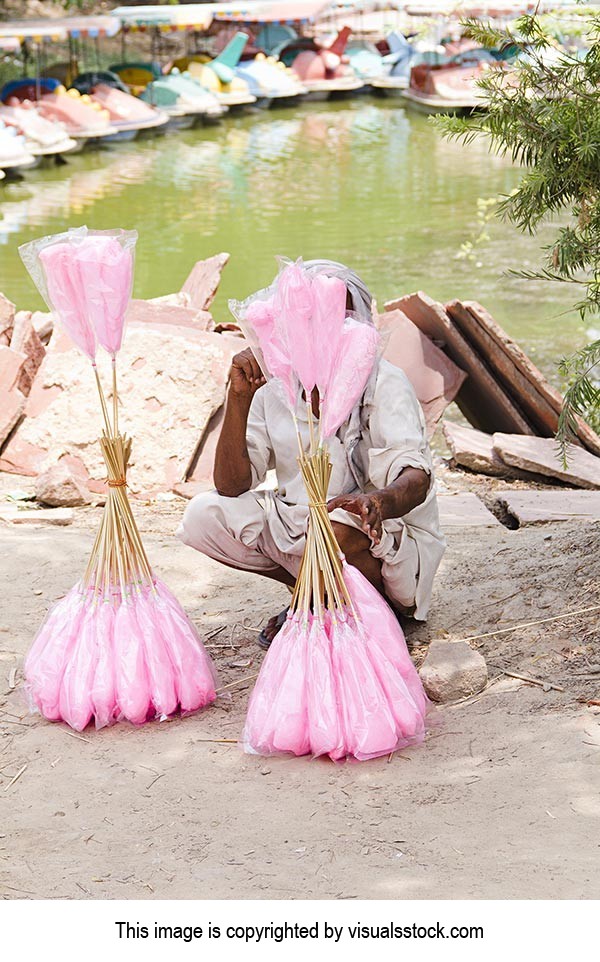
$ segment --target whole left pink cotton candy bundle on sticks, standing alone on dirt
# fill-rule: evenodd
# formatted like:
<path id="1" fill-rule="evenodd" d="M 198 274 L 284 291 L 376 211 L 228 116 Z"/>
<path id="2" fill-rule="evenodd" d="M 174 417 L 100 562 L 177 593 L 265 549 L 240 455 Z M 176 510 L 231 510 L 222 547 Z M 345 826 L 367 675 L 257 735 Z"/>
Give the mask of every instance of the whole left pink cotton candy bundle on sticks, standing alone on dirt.
<path id="1" fill-rule="evenodd" d="M 106 507 L 82 580 L 50 611 L 25 662 L 32 705 L 82 731 L 141 725 L 215 700 L 198 633 L 152 572 L 127 496 L 131 440 L 119 432 L 116 355 L 131 297 L 136 234 L 86 228 L 33 242 L 21 254 L 41 293 L 93 363 L 104 431 Z M 95 363 L 112 359 L 112 418 Z"/>

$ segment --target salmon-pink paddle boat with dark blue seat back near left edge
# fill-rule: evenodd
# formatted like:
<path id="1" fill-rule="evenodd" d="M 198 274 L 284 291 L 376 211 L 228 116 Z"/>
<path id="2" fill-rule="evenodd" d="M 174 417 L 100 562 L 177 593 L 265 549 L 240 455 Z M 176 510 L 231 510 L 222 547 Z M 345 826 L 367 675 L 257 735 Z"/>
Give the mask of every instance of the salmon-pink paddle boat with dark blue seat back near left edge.
<path id="1" fill-rule="evenodd" d="M 26 100 L 36 106 L 42 117 L 63 124 L 69 137 L 80 147 L 117 133 L 107 110 L 78 90 L 67 91 L 53 78 L 25 77 L 9 81 L 0 90 L 0 101 L 9 107 L 19 106 Z"/>

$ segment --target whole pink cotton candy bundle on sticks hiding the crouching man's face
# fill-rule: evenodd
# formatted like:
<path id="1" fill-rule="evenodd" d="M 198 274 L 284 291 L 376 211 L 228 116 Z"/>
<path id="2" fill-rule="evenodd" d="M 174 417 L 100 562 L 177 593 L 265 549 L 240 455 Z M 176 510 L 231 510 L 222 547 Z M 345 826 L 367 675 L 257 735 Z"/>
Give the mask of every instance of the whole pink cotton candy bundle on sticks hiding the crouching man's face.
<path id="1" fill-rule="evenodd" d="M 300 262 L 282 270 L 266 299 L 263 292 L 232 309 L 265 373 L 283 383 L 294 416 L 304 392 L 311 437 L 305 452 L 298 435 L 309 498 L 306 546 L 288 617 L 250 698 L 244 745 L 263 755 L 362 761 L 417 744 L 427 699 L 402 629 L 379 592 L 345 563 L 326 508 L 331 462 L 325 442 L 364 392 L 378 333 L 346 316 L 342 281 L 311 276 Z"/>

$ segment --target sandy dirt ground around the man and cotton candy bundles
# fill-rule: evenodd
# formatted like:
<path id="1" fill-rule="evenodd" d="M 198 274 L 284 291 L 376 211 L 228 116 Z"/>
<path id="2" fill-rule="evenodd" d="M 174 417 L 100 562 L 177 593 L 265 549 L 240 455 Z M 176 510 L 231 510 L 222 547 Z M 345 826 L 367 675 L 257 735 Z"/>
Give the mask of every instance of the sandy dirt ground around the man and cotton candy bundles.
<path id="1" fill-rule="evenodd" d="M 197 716 L 82 736 L 28 715 L 19 671 L 82 572 L 99 509 L 0 529 L 5 898 L 600 897 L 600 707 L 586 704 L 600 703 L 598 612 L 473 641 L 491 683 L 436 708 L 423 747 L 345 765 L 244 755 L 229 740 L 262 658 L 256 628 L 288 596 L 180 545 L 182 510 L 136 506 L 155 568 L 212 636 L 221 684 L 241 681 Z M 600 603 L 600 525 L 448 540 L 430 620 L 408 632 L 417 662 L 433 638 Z"/>

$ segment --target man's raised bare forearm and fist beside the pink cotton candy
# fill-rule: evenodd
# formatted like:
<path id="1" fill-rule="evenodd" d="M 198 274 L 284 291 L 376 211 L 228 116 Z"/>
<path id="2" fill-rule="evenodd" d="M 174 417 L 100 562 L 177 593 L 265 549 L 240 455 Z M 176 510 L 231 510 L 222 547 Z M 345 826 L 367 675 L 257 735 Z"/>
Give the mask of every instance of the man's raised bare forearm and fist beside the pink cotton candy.
<path id="1" fill-rule="evenodd" d="M 264 383 L 250 348 L 236 354 L 231 362 L 225 417 L 215 451 L 215 487 L 226 498 L 237 498 L 252 486 L 246 428 L 252 398 Z"/>

